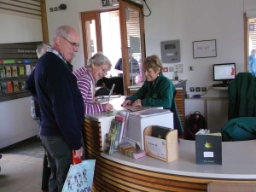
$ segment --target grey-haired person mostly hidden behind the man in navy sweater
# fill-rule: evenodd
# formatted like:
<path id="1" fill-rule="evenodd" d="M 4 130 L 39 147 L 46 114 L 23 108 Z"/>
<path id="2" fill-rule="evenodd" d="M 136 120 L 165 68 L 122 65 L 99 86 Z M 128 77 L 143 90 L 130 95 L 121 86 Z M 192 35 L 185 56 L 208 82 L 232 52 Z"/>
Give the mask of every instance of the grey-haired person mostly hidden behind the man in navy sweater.
<path id="1" fill-rule="evenodd" d="M 42 55 L 44 55 L 44 53 L 46 53 L 47 49 L 50 48 L 49 44 L 40 44 L 38 46 L 38 49 L 36 49 L 37 55 L 38 55 L 38 59 L 40 59 L 40 57 Z M 33 72 L 32 72 L 33 73 Z M 36 120 L 37 120 L 37 124 L 38 124 L 38 137 L 40 137 L 40 131 L 41 131 L 41 113 L 40 113 L 40 108 L 38 105 L 37 100 L 34 100 L 34 105 L 35 105 L 35 113 L 36 113 Z M 46 192 L 49 191 L 48 188 L 48 183 L 49 183 L 49 176 L 50 176 L 50 168 L 48 166 L 48 160 L 47 160 L 47 155 L 46 153 L 44 154 L 44 163 L 43 163 L 43 175 L 42 175 L 42 184 L 41 184 L 41 190 L 42 192 Z"/>

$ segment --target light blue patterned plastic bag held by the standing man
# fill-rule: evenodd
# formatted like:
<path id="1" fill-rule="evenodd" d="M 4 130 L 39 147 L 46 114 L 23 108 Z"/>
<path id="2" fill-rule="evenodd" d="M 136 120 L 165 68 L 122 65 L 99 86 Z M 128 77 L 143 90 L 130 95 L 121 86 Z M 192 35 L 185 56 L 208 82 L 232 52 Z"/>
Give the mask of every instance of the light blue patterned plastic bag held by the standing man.
<path id="1" fill-rule="evenodd" d="M 83 160 L 79 164 L 71 165 L 62 192 L 90 192 L 92 188 L 94 168 L 95 160 Z"/>

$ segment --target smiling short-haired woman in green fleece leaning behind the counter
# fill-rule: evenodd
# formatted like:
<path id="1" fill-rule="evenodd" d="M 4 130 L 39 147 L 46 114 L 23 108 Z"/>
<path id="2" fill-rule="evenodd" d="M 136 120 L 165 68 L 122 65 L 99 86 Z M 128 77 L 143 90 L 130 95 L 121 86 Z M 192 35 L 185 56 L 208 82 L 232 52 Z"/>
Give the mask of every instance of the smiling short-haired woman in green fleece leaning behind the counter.
<path id="1" fill-rule="evenodd" d="M 126 97 L 122 106 L 131 105 L 171 109 L 174 119 L 173 125 L 178 131 L 178 137 L 180 137 L 183 134 L 183 126 L 177 114 L 175 102 L 176 88 L 172 81 L 162 74 L 162 68 L 163 65 L 158 55 L 148 56 L 143 61 L 143 72 L 146 81 L 135 94 Z"/>

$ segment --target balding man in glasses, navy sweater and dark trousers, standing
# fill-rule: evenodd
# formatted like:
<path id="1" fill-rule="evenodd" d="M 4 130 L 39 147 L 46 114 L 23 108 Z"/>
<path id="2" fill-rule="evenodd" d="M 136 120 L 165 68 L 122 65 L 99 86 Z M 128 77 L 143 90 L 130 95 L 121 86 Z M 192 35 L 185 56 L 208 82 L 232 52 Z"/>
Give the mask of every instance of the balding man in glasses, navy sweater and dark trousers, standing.
<path id="1" fill-rule="evenodd" d="M 79 33 L 71 26 L 58 27 L 52 49 L 40 57 L 26 90 L 38 101 L 42 115 L 41 139 L 51 175 L 49 191 L 61 191 L 74 157 L 83 155 L 81 127 L 84 102 L 77 79 L 67 66 L 79 51 Z"/>

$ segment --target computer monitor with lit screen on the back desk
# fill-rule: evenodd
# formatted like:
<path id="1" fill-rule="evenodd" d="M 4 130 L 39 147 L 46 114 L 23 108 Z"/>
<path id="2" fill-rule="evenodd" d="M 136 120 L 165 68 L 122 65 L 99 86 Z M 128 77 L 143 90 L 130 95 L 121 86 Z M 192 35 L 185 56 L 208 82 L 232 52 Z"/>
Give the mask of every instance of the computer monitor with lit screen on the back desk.
<path id="1" fill-rule="evenodd" d="M 236 77 L 236 63 L 213 64 L 213 81 L 222 81 L 222 86 L 228 86 L 228 81 Z"/>

